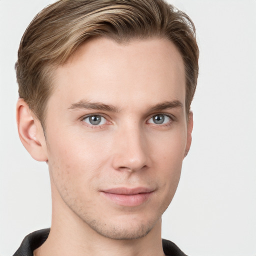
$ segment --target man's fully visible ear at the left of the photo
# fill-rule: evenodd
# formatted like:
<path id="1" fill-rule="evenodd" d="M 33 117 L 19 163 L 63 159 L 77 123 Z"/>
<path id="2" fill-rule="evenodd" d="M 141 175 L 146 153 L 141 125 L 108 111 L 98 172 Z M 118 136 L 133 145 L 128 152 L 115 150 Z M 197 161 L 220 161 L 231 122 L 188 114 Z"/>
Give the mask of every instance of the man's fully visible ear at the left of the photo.
<path id="1" fill-rule="evenodd" d="M 47 147 L 40 121 L 31 109 L 19 98 L 16 105 L 18 135 L 26 150 L 37 161 L 47 161 Z"/>

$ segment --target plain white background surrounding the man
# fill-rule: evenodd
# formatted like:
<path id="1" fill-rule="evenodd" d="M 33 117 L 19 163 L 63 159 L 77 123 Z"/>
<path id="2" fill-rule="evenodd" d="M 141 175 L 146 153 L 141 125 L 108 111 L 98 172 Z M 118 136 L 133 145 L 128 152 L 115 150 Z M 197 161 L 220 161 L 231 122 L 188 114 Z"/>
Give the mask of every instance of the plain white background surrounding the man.
<path id="1" fill-rule="evenodd" d="M 19 40 L 49 0 L 0 0 L 0 255 L 50 226 L 46 163 L 15 125 Z M 189 256 L 256 256 L 256 0 L 170 0 L 200 48 L 193 140 L 162 236 Z"/>

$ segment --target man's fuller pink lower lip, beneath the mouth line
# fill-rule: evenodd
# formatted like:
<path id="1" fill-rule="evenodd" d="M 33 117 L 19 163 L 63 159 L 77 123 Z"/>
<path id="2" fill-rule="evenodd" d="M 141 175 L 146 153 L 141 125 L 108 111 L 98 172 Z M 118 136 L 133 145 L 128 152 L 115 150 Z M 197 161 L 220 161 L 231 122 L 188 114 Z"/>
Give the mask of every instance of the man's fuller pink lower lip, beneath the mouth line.
<path id="1" fill-rule="evenodd" d="M 152 192 L 139 194 L 114 194 L 101 191 L 104 196 L 122 206 L 137 206 L 147 201 Z"/>

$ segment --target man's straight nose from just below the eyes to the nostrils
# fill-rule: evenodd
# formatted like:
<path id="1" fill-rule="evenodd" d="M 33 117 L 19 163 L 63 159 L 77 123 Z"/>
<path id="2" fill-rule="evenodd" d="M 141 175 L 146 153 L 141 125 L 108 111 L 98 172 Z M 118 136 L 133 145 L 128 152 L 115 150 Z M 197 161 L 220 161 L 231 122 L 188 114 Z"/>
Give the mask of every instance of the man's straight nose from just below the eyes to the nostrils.
<path id="1" fill-rule="evenodd" d="M 150 165 L 146 138 L 139 128 L 120 129 L 112 150 L 112 166 L 116 170 L 133 172 Z"/>

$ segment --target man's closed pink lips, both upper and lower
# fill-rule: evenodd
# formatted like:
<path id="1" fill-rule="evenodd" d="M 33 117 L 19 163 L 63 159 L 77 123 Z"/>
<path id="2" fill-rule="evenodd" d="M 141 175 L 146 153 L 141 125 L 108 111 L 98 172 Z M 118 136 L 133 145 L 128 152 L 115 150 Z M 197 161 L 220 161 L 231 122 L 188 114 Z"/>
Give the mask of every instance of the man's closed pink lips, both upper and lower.
<path id="1" fill-rule="evenodd" d="M 122 206 L 137 206 L 146 202 L 153 191 L 153 189 L 146 187 L 116 187 L 102 190 L 101 194 L 116 204 Z"/>

